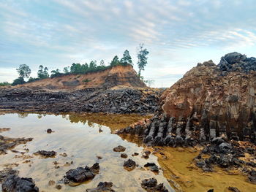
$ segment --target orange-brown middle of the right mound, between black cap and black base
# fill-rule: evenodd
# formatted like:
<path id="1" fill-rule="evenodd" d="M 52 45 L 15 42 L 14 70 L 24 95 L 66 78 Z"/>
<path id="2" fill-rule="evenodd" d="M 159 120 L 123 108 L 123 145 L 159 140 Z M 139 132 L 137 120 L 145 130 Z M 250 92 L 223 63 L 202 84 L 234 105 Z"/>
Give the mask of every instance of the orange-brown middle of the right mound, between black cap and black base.
<path id="1" fill-rule="evenodd" d="M 243 139 L 255 131 L 256 72 L 222 75 L 212 61 L 198 64 L 161 96 L 162 110 L 177 120 L 196 118 L 196 126 L 212 137 L 227 134 Z M 210 131 L 212 129 L 212 131 Z M 215 131 L 214 131 L 215 130 Z"/>

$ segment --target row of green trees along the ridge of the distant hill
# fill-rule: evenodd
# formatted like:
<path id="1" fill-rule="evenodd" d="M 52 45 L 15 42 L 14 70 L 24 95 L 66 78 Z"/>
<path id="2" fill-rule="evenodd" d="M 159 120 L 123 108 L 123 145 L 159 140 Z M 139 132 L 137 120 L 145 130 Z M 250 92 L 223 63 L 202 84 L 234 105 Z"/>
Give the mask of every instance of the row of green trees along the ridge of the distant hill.
<path id="1" fill-rule="evenodd" d="M 143 46 L 144 46 L 143 44 L 140 44 L 138 47 L 138 68 L 139 68 L 138 76 L 139 77 L 140 77 L 141 71 L 144 70 L 144 67 L 147 64 L 146 55 L 148 55 L 148 50 L 144 49 Z M 89 64 L 73 63 L 71 66 L 64 67 L 63 72 L 61 72 L 59 69 L 56 69 L 56 70 L 52 70 L 49 75 L 48 68 L 46 66 L 44 67 L 44 66 L 40 65 L 36 78 L 30 77 L 31 69 L 26 64 L 22 64 L 17 69 L 19 77 L 12 82 L 12 85 L 19 85 L 19 84 L 26 83 L 24 78 L 28 78 L 27 82 L 34 82 L 34 81 L 42 80 L 42 79 L 45 79 L 48 77 L 50 77 L 50 78 L 61 77 L 61 76 L 67 75 L 67 74 L 87 74 L 87 73 L 91 73 L 91 72 L 101 72 L 106 69 L 110 69 L 113 66 L 118 66 L 118 65 L 133 66 L 132 57 L 129 55 L 128 50 L 124 51 L 123 57 L 120 60 L 119 60 L 118 56 L 116 55 L 108 66 L 105 65 L 104 60 L 101 60 L 99 62 L 99 65 L 97 65 L 97 61 L 91 61 Z M 143 77 L 141 76 L 140 79 L 143 80 Z M 83 82 L 89 82 L 89 81 L 83 80 Z M 2 83 L 4 83 L 4 82 L 2 82 Z"/>

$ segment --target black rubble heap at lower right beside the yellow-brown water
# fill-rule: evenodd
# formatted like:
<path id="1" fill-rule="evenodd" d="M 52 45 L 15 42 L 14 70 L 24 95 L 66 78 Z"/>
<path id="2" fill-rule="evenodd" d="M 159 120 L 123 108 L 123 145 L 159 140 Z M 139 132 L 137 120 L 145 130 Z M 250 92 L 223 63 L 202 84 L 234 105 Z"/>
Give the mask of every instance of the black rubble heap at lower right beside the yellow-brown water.
<path id="1" fill-rule="evenodd" d="M 249 157 L 245 158 L 245 154 Z M 249 182 L 256 184 L 256 147 L 252 143 L 227 142 L 225 138 L 217 137 L 200 151 L 194 161 L 204 172 L 213 172 L 214 166 L 238 169 L 248 175 Z"/>

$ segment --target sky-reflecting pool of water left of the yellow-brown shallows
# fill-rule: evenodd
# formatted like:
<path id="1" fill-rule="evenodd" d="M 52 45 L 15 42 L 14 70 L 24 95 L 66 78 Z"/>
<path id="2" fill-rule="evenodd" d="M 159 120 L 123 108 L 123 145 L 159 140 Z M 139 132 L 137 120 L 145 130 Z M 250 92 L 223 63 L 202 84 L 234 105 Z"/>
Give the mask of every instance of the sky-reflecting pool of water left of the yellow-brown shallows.
<path id="1" fill-rule="evenodd" d="M 76 187 L 61 184 L 61 191 L 86 191 L 87 188 L 95 188 L 100 181 L 112 182 L 116 191 L 144 191 L 140 187 L 141 180 L 151 177 L 156 177 L 159 183 L 164 183 L 169 191 L 173 191 L 162 171 L 155 175 L 143 168 L 147 162 L 155 162 L 158 165 L 156 156 L 150 155 L 148 160 L 141 158 L 143 147 L 111 134 L 114 130 L 124 128 L 141 118 L 143 117 L 134 115 L 0 115 L 0 127 L 11 128 L 1 135 L 34 138 L 26 145 L 15 147 L 19 152 L 26 152 L 25 149 L 28 148 L 29 152 L 24 155 L 12 153 L 10 150 L 7 155 L 0 155 L 0 169 L 7 166 L 18 169 L 21 177 L 32 177 L 40 191 L 59 191 L 55 185 L 49 186 L 48 181 L 54 180 L 58 183 L 69 169 L 91 166 L 99 162 L 99 174 L 94 180 Z M 47 134 L 48 128 L 55 132 Z M 113 147 L 118 145 L 126 147 L 124 153 L 139 164 L 135 170 L 128 172 L 123 168 L 124 158 L 120 157 L 121 153 L 113 152 Z M 55 158 L 40 158 L 33 155 L 37 150 L 55 150 L 57 155 Z M 140 155 L 132 156 L 135 152 Z M 67 153 L 67 157 L 62 156 L 63 153 Z M 53 161 L 58 162 L 58 169 Z M 73 164 L 69 164 L 71 161 Z"/>

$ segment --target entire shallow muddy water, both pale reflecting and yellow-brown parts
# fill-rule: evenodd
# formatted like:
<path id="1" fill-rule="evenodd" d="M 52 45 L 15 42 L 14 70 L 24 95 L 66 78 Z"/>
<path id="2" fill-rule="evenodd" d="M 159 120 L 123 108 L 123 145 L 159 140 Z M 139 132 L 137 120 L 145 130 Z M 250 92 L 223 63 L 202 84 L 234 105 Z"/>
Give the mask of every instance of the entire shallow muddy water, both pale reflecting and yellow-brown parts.
<path id="1" fill-rule="evenodd" d="M 91 166 L 95 162 L 99 162 L 100 170 L 94 180 L 75 187 L 61 184 L 61 191 L 86 191 L 87 188 L 95 188 L 100 181 L 112 182 L 115 191 L 144 191 L 140 183 L 151 177 L 155 177 L 158 183 L 164 183 L 169 191 L 204 192 L 214 188 L 214 192 L 223 192 L 229 191 L 229 186 L 245 192 L 256 191 L 256 185 L 248 183 L 246 176 L 238 170 L 226 172 L 216 168 L 215 172 L 204 173 L 198 169 L 192 161 L 199 153 L 199 148 L 146 147 L 136 142 L 137 139 L 133 136 L 122 139 L 113 134 L 116 129 L 124 128 L 142 118 L 145 117 L 75 113 L 0 115 L 0 127 L 11 128 L 1 135 L 34 138 L 26 145 L 15 147 L 20 152 L 26 152 L 24 149 L 28 148 L 29 152 L 24 155 L 11 151 L 7 155 L 0 155 L 0 170 L 7 166 L 18 169 L 21 177 L 34 178 L 40 191 L 59 191 L 55 185 L 49 186 L 48 181 L 58 183 L 69 169 Z M 55 132 L 47 134 L 48 128 Z M 139 164 L 135 170 L 128 172 L 123 168 L 125 159 L 120 157 L 121 153 L 113 152 L 113 147 L 118 145 L 126 147 L 124 153 Z M 33 155 L 37 150 L 55 150 L 57 155 L 56 158 L 40 158 Z M 154 155 L 150 155 L 147 160 L 141 158 L 143 150 L 154 151 Z M 135 152 L 140 155 L 132 156 Z M 67 153 L 67 157 L 61 156 L 63 153 Z M 59 164 L 53 164 L 54 161 Z M 71 161 L 73 164 L 69 164 Z M 147 162 L 154 162 L 162 170 L 156 175 L 144 169 L 143 165 Z M 55 166 L 59 168 L 56 169 Z"/>

